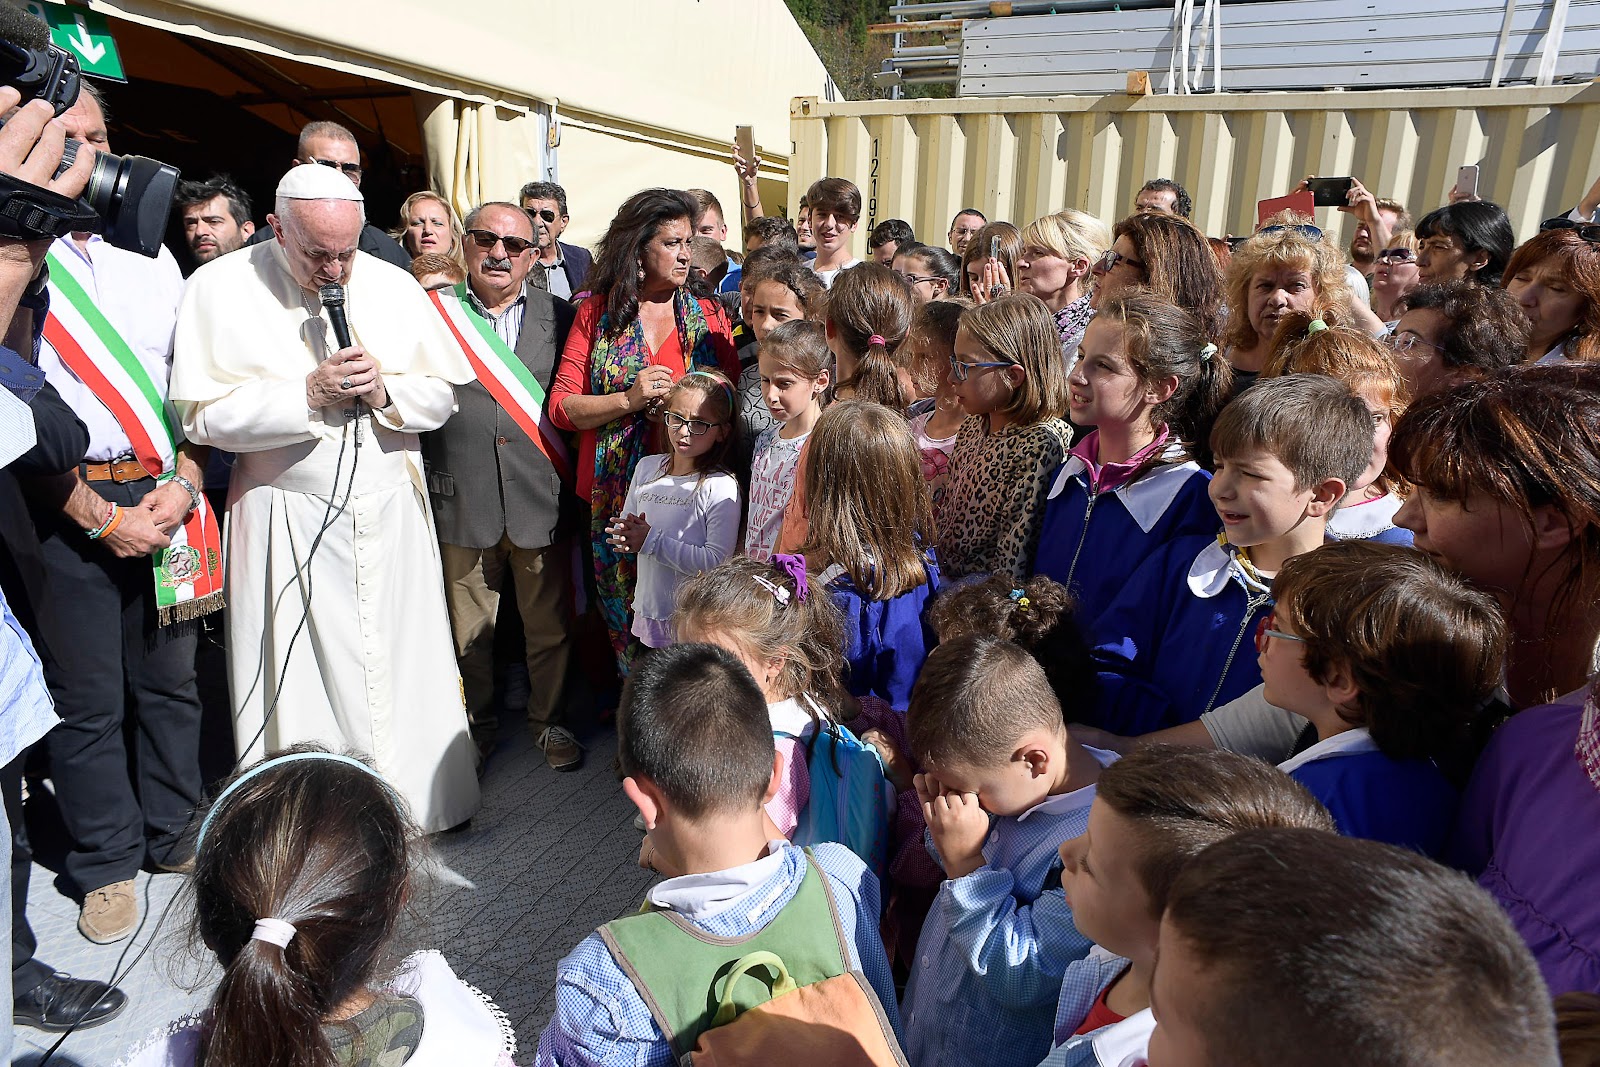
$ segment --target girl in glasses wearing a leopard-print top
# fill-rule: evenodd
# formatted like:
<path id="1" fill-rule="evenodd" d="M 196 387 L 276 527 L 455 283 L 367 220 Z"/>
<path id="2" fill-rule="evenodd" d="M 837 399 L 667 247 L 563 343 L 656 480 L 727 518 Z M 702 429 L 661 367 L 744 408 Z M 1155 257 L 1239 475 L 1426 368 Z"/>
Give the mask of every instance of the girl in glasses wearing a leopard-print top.
<path id="1" fill-rule="evenodd" d="M 939 566 L 1027 577 L 1045 494 L 1072 446 L 1061 333 L 1045 302 L 1003 296 L 963 314 L 950 386 L 966 419 L 934 496 Z"/>

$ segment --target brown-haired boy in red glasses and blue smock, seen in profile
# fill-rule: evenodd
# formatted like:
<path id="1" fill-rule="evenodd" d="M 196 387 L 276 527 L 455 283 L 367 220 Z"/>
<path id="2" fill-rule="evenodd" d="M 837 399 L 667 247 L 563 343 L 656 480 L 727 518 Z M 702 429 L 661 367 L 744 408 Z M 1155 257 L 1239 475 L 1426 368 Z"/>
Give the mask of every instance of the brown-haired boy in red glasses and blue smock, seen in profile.
<path id="1" fill-rule="evenodd" d="M 1262 696 L 1315 731 L 1280 769 L 1341 833 L 1438 857 L 1459 797 L 1435 760 L 1462 752 L 1506 662 L 1494 598 L 1371 541 L 1290 560 L 1277 592 L 1259 638 Z"/>

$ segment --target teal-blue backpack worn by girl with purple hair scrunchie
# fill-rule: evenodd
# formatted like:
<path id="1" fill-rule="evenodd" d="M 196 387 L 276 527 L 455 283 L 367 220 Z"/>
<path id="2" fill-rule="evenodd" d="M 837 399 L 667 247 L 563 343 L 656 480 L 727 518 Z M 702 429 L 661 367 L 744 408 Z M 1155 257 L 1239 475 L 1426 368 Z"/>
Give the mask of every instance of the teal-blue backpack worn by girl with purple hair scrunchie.
<path id="1" fill-rule="evenodd" d="M 794 737 L 781 731 L 774 736 Z M 798 744 L 806 750 L 811 798 L 800 809 L 794 843 L 837 841 L 883 878 L 890 862 L 894 785 L 883 771 L 878 750 L 846 726 L 827 720 Z"/>

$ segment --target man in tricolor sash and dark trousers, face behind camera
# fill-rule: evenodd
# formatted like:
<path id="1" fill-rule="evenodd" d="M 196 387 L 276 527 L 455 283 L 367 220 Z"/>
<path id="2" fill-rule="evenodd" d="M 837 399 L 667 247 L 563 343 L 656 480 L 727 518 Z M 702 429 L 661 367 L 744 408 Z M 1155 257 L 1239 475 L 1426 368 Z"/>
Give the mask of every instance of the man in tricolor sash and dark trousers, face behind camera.
<path id="1" fill-rule="evenodd" d="M 62 120 L 106 147 L 93 93 Z M 45 677 L 62 723 L 45 744 L 72 838 L 66 873 L 83 894 L 78 929 L 109 944 L 138 925 L 139 869 L 189 861 L 182 830 L 202 789 L 194 619 L 221 606 L 222 555 L 198 490 L 205 450 L 184 442 L 168 402 L 178 264 L 91 234 L 56 240 L 46 264 L 38 363 L 90 448 L 35 507 L 61 630 Z"/>

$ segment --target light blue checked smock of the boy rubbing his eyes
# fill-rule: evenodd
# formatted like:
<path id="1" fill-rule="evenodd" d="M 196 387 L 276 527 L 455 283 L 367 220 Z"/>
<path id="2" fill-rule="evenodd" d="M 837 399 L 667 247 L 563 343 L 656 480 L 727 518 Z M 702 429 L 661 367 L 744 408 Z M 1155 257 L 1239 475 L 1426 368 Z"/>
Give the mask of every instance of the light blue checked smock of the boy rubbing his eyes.
<path id="1" fill-rule="evenodd" d="M 1086 750 L 1101 766 L 1117 760 Z M 939 886 L 901 1001 L 912 1067 L 1032 1067 L 1050 1051 L 1061 976 L 1090 950 L 1056 849 L 1083 833 L 1093 800 L 1085 785 L 994 819 L 984 865 Z"/>

